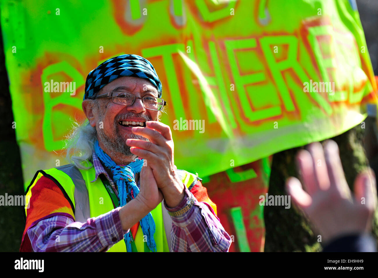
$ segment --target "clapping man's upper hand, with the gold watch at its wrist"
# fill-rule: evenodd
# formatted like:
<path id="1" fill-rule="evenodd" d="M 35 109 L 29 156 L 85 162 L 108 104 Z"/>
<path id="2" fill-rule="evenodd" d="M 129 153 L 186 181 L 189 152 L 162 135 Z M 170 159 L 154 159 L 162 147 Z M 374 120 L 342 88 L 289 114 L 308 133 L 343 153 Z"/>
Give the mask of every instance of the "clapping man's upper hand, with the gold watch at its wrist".
<path id="1" fill-rule="evenodd" d="M 127 139 L 126 143 L 133 154 L 147 159 L 168 207 L 176 207 L 185 196 L 185 188 L 176 172 L 174 143 L 169 126 L 158 121 L 148 121 L 146 127 L 133 127 L 132 132 L 150 140 Z"/>

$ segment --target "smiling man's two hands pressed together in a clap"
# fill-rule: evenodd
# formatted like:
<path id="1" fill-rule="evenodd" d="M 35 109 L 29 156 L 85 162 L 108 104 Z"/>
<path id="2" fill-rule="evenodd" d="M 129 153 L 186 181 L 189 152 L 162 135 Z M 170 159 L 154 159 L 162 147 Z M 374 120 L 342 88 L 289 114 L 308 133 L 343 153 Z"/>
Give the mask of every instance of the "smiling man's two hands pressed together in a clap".
<path id="1" fill-rule="evenodd" d="M 147 121 L 146 127 L 133 127 L 132 132 L 150 140 L 126 141 L 130 152 L 147 162 L 140 172 L 140 191 L 136 199 L 149 211 L 163 199 L 168 207 L 177 207 L 185 196 L 185 188 L 174 164 L 170 127 L 158 121 Z"/>

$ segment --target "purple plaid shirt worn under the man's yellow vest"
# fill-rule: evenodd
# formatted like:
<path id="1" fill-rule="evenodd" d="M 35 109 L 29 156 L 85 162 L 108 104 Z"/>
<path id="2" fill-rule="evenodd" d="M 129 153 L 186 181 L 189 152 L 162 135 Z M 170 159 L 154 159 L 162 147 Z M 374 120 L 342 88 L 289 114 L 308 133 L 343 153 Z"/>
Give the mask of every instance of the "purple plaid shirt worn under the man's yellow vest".
<path id="1" fill-rule="evenodd" d="M 105 174 L 114 191 L 117 190 L 112 179 L 105 171 L 100 160 L 93 152 L 95 180 Z M 92 182 L 94 182 L 93 180 Z M 139 181 L 138 181 L 139 184 Z M 175 208 L 185 207 L 187 197 L 192 193 L 185 188 L 186 196 Z M 194 197 L 194 196 L 193 196 Z M 195 198 L 194 198 L 195 199 Z M 227 252 L 231 238 L 226 233 L 219 219 L 212 214 L 210 206 L 195 199 L 194 205 L 181 216 L 172 218 L 172 246 L 174 252 Z M 87 223 L 74 222 L 71 217 L 55 215 L 42 219 L 27 231 L 34 252 L 100 252 L 107 251 L 116 242 L 123 240 L 125 233 L 119 219 L 119 210 L 115 208 L 108 213 L 87 220 Z"/>

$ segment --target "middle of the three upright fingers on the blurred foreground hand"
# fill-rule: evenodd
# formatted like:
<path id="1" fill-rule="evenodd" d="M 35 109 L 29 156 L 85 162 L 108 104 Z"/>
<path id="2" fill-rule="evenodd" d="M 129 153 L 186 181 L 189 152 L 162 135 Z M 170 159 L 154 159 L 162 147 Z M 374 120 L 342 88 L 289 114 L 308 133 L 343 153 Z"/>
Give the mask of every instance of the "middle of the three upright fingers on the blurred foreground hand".
<path id="1" fill-rule="evenodd" d="M 330 179 L 328 177 L 327 164 L 325 162 L 322 144 L 314 142 L 308 145 L 307 149 L 313 159 L 316 186 L 318 189 L 327 190 L 330 187 Z"/>

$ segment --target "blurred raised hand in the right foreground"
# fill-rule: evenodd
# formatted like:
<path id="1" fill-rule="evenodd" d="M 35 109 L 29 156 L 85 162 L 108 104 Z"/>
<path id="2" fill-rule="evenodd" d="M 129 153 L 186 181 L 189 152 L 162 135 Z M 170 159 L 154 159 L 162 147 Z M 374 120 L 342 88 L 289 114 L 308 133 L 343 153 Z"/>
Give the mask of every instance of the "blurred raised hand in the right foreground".
<path id="1" fill-rule="evenodd" d="M 376 207 L 375 176 L 370 168 L 356 177 L 352 199 L 334 141 L 325 143 L 324 152 L 320 143 L 310 144 L 308 151 L 299 152 L 297 162 L 307 192 L 294 177 L 287 180 L 286 189 L 324 242 L 342 235 L 370 232 Z"/>

